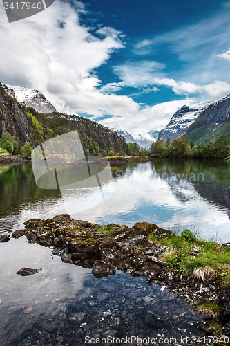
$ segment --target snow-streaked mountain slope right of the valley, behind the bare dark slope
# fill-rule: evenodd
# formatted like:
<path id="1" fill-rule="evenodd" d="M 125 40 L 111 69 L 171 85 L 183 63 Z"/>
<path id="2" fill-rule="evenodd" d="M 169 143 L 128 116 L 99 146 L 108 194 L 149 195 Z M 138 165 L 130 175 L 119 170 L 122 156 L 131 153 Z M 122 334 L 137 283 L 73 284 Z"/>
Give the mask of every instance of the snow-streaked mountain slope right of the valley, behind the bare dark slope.
<path id="1" fill-rule="evenodd" d="M 164 141 L 166 141 L 167 138 L 173 140 L 185 134 L 189 126 L 191 126 L 195 119 L 200 116 L 200 113 L 208 107 L 209 103 L 202 103 L 193 107 L 186 105 L 182 106 L 181 109 L 173 114 L 169 124 L 160 131 L 158 138 L 162 138 Z"/>

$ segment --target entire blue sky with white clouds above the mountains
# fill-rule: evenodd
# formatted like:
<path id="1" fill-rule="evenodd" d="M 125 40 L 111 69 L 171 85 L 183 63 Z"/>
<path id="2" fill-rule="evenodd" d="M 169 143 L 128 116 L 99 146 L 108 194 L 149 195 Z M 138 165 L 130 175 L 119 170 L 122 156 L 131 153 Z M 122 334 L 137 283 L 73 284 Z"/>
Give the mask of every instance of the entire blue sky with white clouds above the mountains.
<path id="1" fill-rule="evenodd" d="M 1 3 L 0 81 L 148 138 L 182 105 L 230 93 L 229 17 L 221 0 L 55 0 L 9 24 Z"/>

